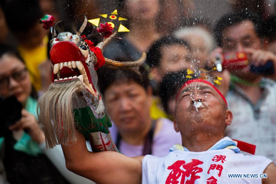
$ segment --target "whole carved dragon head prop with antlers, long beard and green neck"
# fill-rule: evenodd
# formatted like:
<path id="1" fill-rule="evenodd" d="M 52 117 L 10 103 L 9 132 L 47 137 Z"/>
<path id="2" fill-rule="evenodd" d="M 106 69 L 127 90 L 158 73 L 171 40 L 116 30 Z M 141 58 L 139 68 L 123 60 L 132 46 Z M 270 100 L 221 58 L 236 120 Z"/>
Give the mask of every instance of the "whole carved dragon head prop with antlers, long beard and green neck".
<path id="1" fill-rule="evenodd" d="M 95 70 L 105 66 L 138 71 L 146 54 L 143 53 L 140 59 L 133 62 L 119 62 L 103 57 L 104 47 L 116 32 L 94 47 L 87 37 L 80 35 L 87 24 L 86 16 L 80 15 L 78 18 L 81 16 L 84 22 L 78 31 L 75 22 L 76 34 L 64 32 L 62 21 L 50 28 L 50 59 L 54 65 L 52 84 L 38 100 L 38 123 L 45 133 L 46 145 L 50 148 L 74 141 L 77 130 L 90 140 L 93 152 L 118 151 L 108 129 L 111 121 L 105 113 L 102 97 L 95 90 L 98 82 Z M 103 34 L 98 31 L 88 37 L 105 36 Z"/>

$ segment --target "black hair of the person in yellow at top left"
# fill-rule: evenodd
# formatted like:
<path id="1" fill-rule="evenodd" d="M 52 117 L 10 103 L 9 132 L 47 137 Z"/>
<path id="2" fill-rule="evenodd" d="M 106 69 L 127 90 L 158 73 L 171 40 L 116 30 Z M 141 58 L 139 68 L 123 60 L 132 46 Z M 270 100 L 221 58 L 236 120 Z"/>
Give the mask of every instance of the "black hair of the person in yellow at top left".
<path id="1" fill-rule="evenodd" d="M 36 0 L 6 0 L 2 6 L 7 25 L 14 33 L 27 33 L 43 16 Z"/>

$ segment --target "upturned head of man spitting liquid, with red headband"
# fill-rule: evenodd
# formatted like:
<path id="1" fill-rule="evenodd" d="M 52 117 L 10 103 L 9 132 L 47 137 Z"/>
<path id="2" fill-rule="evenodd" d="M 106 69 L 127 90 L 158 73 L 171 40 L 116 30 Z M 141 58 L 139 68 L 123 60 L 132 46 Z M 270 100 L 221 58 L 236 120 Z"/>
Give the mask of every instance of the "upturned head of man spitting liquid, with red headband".
<path id="1" fill-rule="evenodd" d="M 176 99 L 175 128 L 181 135 L 195 131 L 224 135 L 232 113 L 220 91 L 206 80 L 190 80 L 183 85 Z"/>

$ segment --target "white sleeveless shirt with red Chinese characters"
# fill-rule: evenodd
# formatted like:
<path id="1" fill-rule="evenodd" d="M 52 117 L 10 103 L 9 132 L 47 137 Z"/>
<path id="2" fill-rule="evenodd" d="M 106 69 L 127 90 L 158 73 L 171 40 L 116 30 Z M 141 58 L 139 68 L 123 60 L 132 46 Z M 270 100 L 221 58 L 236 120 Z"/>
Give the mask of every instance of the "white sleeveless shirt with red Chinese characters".
<path id="1" fill-rule="evenodd" d="M 271 162 L 263 156 L 238 154 L 227 148 L 172 151 L 165 157 L 146 155 L 142 183 L 262 183 L 261 178 L 244 178 L 250 175 L 229 178 L 228 174 L 262 174 Z"/>

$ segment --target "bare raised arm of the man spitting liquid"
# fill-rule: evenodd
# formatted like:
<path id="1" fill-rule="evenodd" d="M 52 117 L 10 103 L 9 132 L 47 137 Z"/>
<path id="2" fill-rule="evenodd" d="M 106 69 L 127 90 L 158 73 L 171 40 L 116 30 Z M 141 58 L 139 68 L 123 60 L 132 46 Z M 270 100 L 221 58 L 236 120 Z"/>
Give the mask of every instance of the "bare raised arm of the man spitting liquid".
<path id="1" fill-rule="evenodd" d="M 84 135 L 62 145 L 68 170 L 96 183 L 141 183 L 143 157 L 130 158 L 115 151 L 89 152 Z"/>

